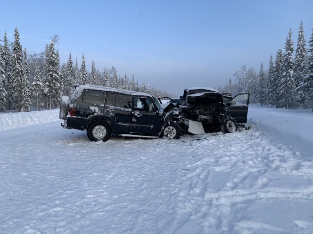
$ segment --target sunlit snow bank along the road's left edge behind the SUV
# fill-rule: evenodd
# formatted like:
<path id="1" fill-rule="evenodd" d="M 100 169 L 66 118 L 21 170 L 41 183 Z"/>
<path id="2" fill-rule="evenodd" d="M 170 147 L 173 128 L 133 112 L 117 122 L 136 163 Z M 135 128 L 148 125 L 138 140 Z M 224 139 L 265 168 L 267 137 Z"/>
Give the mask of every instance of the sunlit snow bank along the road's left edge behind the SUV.
<path id="1" fill-rule="evenodd" d="M 60 120 L 58 118 L 60 110 L 49 111 L 33 111 L 33 112 L 19 112 L 19 113 L 1 113 L 0 114 L 0 130 L 15 129 L 32 125 L 36 123 L 44 123 Z"/>

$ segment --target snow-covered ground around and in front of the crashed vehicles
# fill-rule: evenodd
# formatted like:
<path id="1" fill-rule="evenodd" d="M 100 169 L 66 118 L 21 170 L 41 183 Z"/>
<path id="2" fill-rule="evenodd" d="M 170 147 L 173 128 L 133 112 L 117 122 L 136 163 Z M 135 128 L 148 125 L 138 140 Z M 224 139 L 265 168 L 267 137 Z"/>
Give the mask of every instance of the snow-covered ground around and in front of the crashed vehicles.
<path id="1" fill-rule="evenodd" d="M 0 233 L 313 233 L 313 113 L 251 106 L 249 119 L 90 142 L 58 110 L 0 114 Z"/>

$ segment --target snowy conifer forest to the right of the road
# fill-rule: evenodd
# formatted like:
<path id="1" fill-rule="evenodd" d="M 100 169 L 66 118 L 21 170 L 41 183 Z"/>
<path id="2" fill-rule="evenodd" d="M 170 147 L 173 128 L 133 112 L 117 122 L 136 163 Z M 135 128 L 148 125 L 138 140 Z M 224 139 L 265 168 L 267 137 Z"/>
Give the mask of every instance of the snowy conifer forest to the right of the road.
<path id="1" fill-rule="evenodd" d="M 233 74 L 221 91 L 250 95 L 250 103 L 260 103 L 276 108 L 311 108 L 313 105 L 313 29 L 308 41 L 308 48 L 304 38 L 303 23 L 300 23 L 298 42 L 294 51 L 294 42 L 289 30 L 284 52 L 279 49 L 275 59 L 270 55 L 269 69 L 264 71 L 261 62 L 260 71 L 247 69 Z M 294 53 L 295 52 L 295 53 Z"/>

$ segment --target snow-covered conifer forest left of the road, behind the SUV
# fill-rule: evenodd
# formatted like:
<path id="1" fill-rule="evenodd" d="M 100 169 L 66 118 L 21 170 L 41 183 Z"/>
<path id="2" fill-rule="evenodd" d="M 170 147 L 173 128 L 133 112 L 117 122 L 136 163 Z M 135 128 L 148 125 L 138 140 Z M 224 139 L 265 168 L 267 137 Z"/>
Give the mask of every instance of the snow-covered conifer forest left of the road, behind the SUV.
<path id="1" fill-rule="evenodd" d="M 51 38 L 45 51 L 39 54 L 27 54 L 19 41 L 19 32 L 15 28 L 14 41 L 9 42 L 4 33 L 0 44 L 0 111 L 54 109 L 60 107 L 62 95 L 71 95 L 74 84 L 94 84 L 133 90 L 159 96 L 172 96 L 166 91 L 150 87 L 145 82 L 139 84 L 134 74 L 131 78 L 118 75 L 114 66 L 100 72 L 91 63 L 91 71 L 86 68 L 85 55 L 79 66 L 77 58 L 72 60 L 71 53 L 66 63 L 60 64 L 60 54 L 55 48 L 58 36 Z"/>

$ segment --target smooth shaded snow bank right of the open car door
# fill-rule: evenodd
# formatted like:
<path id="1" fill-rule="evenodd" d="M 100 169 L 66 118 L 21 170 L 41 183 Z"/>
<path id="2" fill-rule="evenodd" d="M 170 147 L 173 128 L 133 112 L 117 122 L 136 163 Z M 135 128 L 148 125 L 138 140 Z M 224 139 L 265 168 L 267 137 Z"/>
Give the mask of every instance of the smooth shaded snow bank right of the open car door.
<path id="1" fill-rule="evenodd" d="M 271 140 L 311 155 L 313 152 L 313 113 L 310 109 L 286 110 L 249 105 L 253 128 Z"/>

